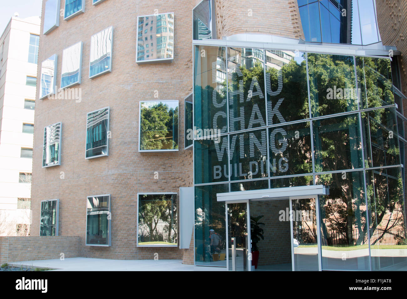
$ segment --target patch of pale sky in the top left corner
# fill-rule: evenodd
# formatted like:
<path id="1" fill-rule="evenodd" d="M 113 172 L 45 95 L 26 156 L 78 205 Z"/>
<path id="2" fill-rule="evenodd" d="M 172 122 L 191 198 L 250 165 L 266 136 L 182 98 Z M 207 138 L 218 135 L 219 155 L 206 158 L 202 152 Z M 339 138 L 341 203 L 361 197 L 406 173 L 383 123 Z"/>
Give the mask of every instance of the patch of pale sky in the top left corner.
<path id="1" fill-rule="evenodd" d="M 15 12 L 19 17 L 41 15 L 42 0 L 0 0 L 0 35 Z"/>

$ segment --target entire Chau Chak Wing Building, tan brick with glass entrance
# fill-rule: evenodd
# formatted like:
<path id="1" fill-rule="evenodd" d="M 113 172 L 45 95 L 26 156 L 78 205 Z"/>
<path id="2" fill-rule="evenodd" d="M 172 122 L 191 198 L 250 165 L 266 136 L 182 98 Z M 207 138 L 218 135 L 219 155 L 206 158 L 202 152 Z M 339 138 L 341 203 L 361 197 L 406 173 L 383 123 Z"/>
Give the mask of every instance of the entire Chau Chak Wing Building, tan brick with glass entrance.
<path id="1" fill-rule="evenodd" d="M 378 9 L 44 0 L 31 234 L 93 258 L 407 269 L 405 74 Z"/>

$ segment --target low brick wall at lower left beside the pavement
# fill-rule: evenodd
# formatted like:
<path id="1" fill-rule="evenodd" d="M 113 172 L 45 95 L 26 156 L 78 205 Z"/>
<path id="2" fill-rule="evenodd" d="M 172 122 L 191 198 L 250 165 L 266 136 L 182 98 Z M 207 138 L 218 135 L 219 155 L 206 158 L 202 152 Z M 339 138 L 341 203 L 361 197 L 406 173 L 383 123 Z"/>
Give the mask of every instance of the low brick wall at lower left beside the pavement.
<path id="1" fill-rule="evenodd" d="M 80 255 L 79 236 L 0 237 L 0 264 Z"/>

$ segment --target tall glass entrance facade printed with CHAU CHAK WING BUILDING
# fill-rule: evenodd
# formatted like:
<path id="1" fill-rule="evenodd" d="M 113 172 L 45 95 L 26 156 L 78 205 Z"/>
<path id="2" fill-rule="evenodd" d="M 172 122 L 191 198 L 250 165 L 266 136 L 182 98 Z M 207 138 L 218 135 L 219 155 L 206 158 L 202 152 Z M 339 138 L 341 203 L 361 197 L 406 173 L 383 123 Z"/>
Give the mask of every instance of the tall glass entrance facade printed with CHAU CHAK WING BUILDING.
<path id="1" fill-rule="evenodd" d="M 321 247 L 322 270 L 407 262 L 387 57 L 197 45 L 194 67 L 196 264 L 221 265 L 208 247 L 211 229 L 225 240 L 217 193 L 308 185 L 329 187 L 295 202 L 318 210 L 320 244 L 305 243 Z"/>

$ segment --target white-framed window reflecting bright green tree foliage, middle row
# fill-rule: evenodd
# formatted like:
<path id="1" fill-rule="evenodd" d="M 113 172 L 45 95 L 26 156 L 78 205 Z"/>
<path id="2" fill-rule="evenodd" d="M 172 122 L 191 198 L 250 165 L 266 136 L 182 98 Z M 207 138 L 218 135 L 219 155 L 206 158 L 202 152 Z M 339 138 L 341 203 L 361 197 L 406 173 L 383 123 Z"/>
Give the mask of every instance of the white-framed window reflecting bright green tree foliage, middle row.
<path id="1" fill-rule="evenodd" d="M 178 107 L 178 100 L 140 102 L 140 152 L 178 151 Z"/>

